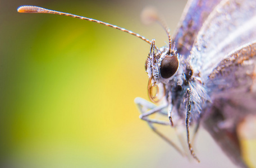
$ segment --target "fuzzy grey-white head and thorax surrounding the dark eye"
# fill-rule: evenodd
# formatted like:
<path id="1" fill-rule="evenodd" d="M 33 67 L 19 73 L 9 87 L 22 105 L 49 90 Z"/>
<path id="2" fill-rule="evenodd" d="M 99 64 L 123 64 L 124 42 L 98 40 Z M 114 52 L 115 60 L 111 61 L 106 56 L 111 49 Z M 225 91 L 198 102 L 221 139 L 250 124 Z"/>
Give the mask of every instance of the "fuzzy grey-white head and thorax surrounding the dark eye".
<path id="1" fill-rule="evenodd" d="M 159 49 L 159 53 L 156 54 L 158 60 L 157 66 L 150 68 L 150 62 L 148 62 L 148 76 L 153 76 L 153 80 L 156 85 L 162 83 L 166 90 L 165 99 L 170 102 L 172 106 L 172 114 L 178 116 L 185 116 L 185 105 L 186 105 L 186 90 L 191 89 L 193 93 L 193 99 L 191 101 L 191 114 L 193 115 L 193 120 L 197 121 L 199 119 L 200 113 L 202 113 L 202 104 L 205 100 L 209 99 L 207 97 L 207 91 L 204 87 L 202 81 L 200 80 L 199 74 L 193 73 L 193 67 L 191 67 L 189 58 L 185 59 L 177 54 L 177 59 L 179 60 L 179 68 L 176 73 L 170 78 L 163 78 L 161 75 L 161 62 L 163 60 L 163 55 L 168 51 L 168 48 L 163 47 Z M 173 50 L 173 52 L 175 52 Z"/>

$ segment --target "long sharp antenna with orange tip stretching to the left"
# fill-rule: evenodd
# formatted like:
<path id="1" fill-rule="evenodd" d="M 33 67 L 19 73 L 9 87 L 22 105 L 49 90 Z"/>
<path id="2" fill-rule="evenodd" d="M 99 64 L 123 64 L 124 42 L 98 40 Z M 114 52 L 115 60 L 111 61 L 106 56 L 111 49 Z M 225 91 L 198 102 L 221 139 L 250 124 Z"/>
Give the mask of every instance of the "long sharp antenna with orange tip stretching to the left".
<path id="1" fill-rule="evenodd" d="M 45 9 L 45 8 L 42 8 L 42 7 L 37 7 L 37 6 L 20 6 L 19 8 L 17 8 L 17 11 L 20 12 L 20 13 L 51 13 L 51 14 L 56 14 L 56 15 L 64 15 L 64 16 L 80 18 L 81 20 L 88 20 L 88 21 L 91 21 L 91 22 L 97 22 L 98 24 L 102 24 L 102 25 L 105 25 L 105 26 L 108 26 L 108 27 L 113 27 L 113 28 L 115 28 L 117 30 L 121 30 L 121 31 L 127 32 L 127 33 L 129 33 L 131 35 L 136 36 L 137 38 L 140 38 L 143 41 L 146 41 L 148 44 L 151 45 L 151 41 L 146 39 L 144 36 L 141 36 L 141 35 L 139 35 L 139 34 L 137 34 L 135 32 L 132 32 L 130 30 L 126 30 L 126 29 L 124 29 L 122 27 L 118 27 L 116 25 L 111 25 L 111 24 L 108 24 L 106 22 L 95 20 L 93 18 L 77 16 L 77 15 L 73 15 L 71 13 L 65 13 L 65 12 L 48 10 L 48 9 Z"/>

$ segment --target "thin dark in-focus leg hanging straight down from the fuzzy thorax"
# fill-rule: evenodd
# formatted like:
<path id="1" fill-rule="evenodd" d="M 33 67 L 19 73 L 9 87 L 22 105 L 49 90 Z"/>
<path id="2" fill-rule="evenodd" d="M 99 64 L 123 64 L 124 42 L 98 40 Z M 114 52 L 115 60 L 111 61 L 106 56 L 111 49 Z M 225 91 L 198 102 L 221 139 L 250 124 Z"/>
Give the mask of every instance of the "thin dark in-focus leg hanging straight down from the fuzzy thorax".
<path id="1" fill-rule="evenodd" d="M 191 111 L 191 89 L 188 88 L 187 90 L 187 94 L 188 94 L 188 102 L 187 102 L 187 113 L 186 113 L 186 133 L 187 133 L 187 141 L 188 141 L 188 145 L 189 145 L 189 150 L 191 155 L 195 158 L 196 161 L 200 162 L 199 159 L 195 156 L 194 150 L 191 146 L 191 142 L 190 142 L 190 138 L 189 138 L 189 119 L 190 119 L 190 111 Z"/>

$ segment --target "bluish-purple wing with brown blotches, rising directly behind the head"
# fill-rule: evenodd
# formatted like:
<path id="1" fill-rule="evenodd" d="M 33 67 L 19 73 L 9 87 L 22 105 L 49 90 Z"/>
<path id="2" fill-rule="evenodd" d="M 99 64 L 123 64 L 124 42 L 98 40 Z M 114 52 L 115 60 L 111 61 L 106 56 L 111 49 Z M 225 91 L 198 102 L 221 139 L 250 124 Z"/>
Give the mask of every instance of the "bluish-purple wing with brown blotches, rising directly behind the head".
<path id="1" fill-rule="evenodd" d="M 203 22 L 221 0 L 189 0 L 173 35 L 177 53 L 187 57 Z"/>

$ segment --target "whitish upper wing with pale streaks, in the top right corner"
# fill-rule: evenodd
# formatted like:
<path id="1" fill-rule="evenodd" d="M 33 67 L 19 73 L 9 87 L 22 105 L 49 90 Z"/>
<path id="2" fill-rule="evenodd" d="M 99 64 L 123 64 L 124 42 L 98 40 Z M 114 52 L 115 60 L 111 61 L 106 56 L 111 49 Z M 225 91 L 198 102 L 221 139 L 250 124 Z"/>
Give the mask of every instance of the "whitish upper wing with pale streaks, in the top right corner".
<path id="1" fill-rule="evenodd" d="M 202 81 L 228 53 L 256 39 L 256 1 L 225 0 L 214 8 L 198 32 L 190 61 Z"/>

